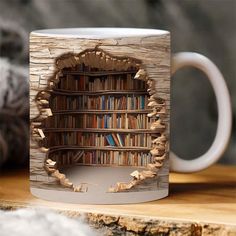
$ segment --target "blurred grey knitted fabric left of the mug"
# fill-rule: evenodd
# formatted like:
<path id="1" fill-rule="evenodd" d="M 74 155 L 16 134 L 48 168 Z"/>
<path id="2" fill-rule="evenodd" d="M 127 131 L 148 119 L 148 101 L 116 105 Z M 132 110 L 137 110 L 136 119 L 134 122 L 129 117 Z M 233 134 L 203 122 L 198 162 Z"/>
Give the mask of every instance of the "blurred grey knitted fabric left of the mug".
<path id="1" fill-rule="evenodd" d="M 17 59 L 19 62 L 25 54 L 24 39 L 18 34 L 17 28 L 3 27 L 2 23 L 0 24 L 0 166 L 6 164 L 14 167 L 28 163 L 28 71 L 26 67 L 13 64 L 13 61 Z"/>

